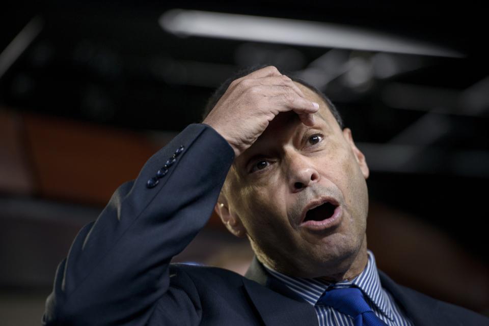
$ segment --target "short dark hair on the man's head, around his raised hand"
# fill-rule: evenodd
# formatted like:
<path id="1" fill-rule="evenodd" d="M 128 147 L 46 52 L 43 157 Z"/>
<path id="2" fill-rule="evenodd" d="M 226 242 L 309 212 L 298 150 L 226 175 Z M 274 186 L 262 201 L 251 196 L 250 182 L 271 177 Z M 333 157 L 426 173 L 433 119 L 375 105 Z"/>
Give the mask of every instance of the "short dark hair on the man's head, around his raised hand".
<path id="1" fill-rule="evenodd" d="M 233 80 L 238 79 L 238 78 L 241 78 L 241 77 L 246 76 L 248 74 L 251 74 L 252 72 L 257 71 L 257 70 L 259 70 L 261 68 L 264 68 L 266 66 L 268 66 L 268 65 L 254 66 L 254 67 L 251 67 L 251 68 L 245 68 L 245 69 L 242 69 L 242 70 L 238 70 L 233 75 L 231 75 L 228 79 L 226 79 L 226 81 L 224 81 L 215 90 L 214 94 L 212 94 L 212 96 L 207 100 L 207 104 L 205 105 L 204 112 L 202 114 L 202 120 L 205 119 L 205 117 L 209 114 L 209 112 L 214 108 L 215 104 L 218 103 L 218 101 L 221 99 L 221 97 L 224 95 L 224 93 L 226 93 L 226 90 L 228 89 L 229 85 L 231 84 L 231 82 Z M 303 79 L 301 79 L 301 78 L 299 78 L 297 76 L 294 76 L 293 74 L 287 73 L 286 75 L 290 79 L 292 79 L 293 81 L 298 82 L 300 84 L 303 84 L 304 86 L 306 86 L 307 88 L 309 88 L 311 91 L 313 91 L 314 93 L 316 93 L 317 95 L 319 95 L 319 97 L 321 97 L 321 99 L 324 101 L 324 103 L 326 103 L 326 105 L 330 109 L 330 112 L 335 117 L 336 121 L 338 122 L 338 125 L 340 126 L 340 129 L 343 129 L 344 128 L 344 126 L 343 126 L 343 119 L 341 118 L 341 115 L 338 112 L 338 109 L 336 108 L 336 106 L 333 104 L 333 102 L 331 102 L 331 100 L 324 93 L 322 93 L 316 87 L 314 87 L 313 85 L 311 85 L 308 82 L 304 81 Z"/>

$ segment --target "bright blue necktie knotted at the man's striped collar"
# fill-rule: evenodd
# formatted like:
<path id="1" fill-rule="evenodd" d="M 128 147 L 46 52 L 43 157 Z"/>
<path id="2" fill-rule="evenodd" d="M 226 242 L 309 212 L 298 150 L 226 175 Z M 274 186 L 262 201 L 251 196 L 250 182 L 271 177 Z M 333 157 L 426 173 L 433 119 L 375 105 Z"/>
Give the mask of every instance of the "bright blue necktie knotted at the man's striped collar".
<path id="1" fill-rule="evenodd" d="M 359 288 L 346 287 L 324 292 L 317 305 L 330 306 L 355 319 L 356 326 L 387 326 L 370 309 Z"/>

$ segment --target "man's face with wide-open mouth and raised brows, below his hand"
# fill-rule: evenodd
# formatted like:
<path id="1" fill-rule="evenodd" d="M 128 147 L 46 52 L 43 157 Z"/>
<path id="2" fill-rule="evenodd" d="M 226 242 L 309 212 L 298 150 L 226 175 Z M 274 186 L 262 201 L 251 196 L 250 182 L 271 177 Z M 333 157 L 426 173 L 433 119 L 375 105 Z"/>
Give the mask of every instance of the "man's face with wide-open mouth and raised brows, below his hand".
<path id="1" fill-rule="evenodd" d="M 366 248 L 368 167 L 324 101 L 296 84 L 319 103 L 315 124 L 281 113 L 236 158 L 223 188 L 228 228 L 246 230 L 259 260 L 279 272 L 337 275 Z"/>

